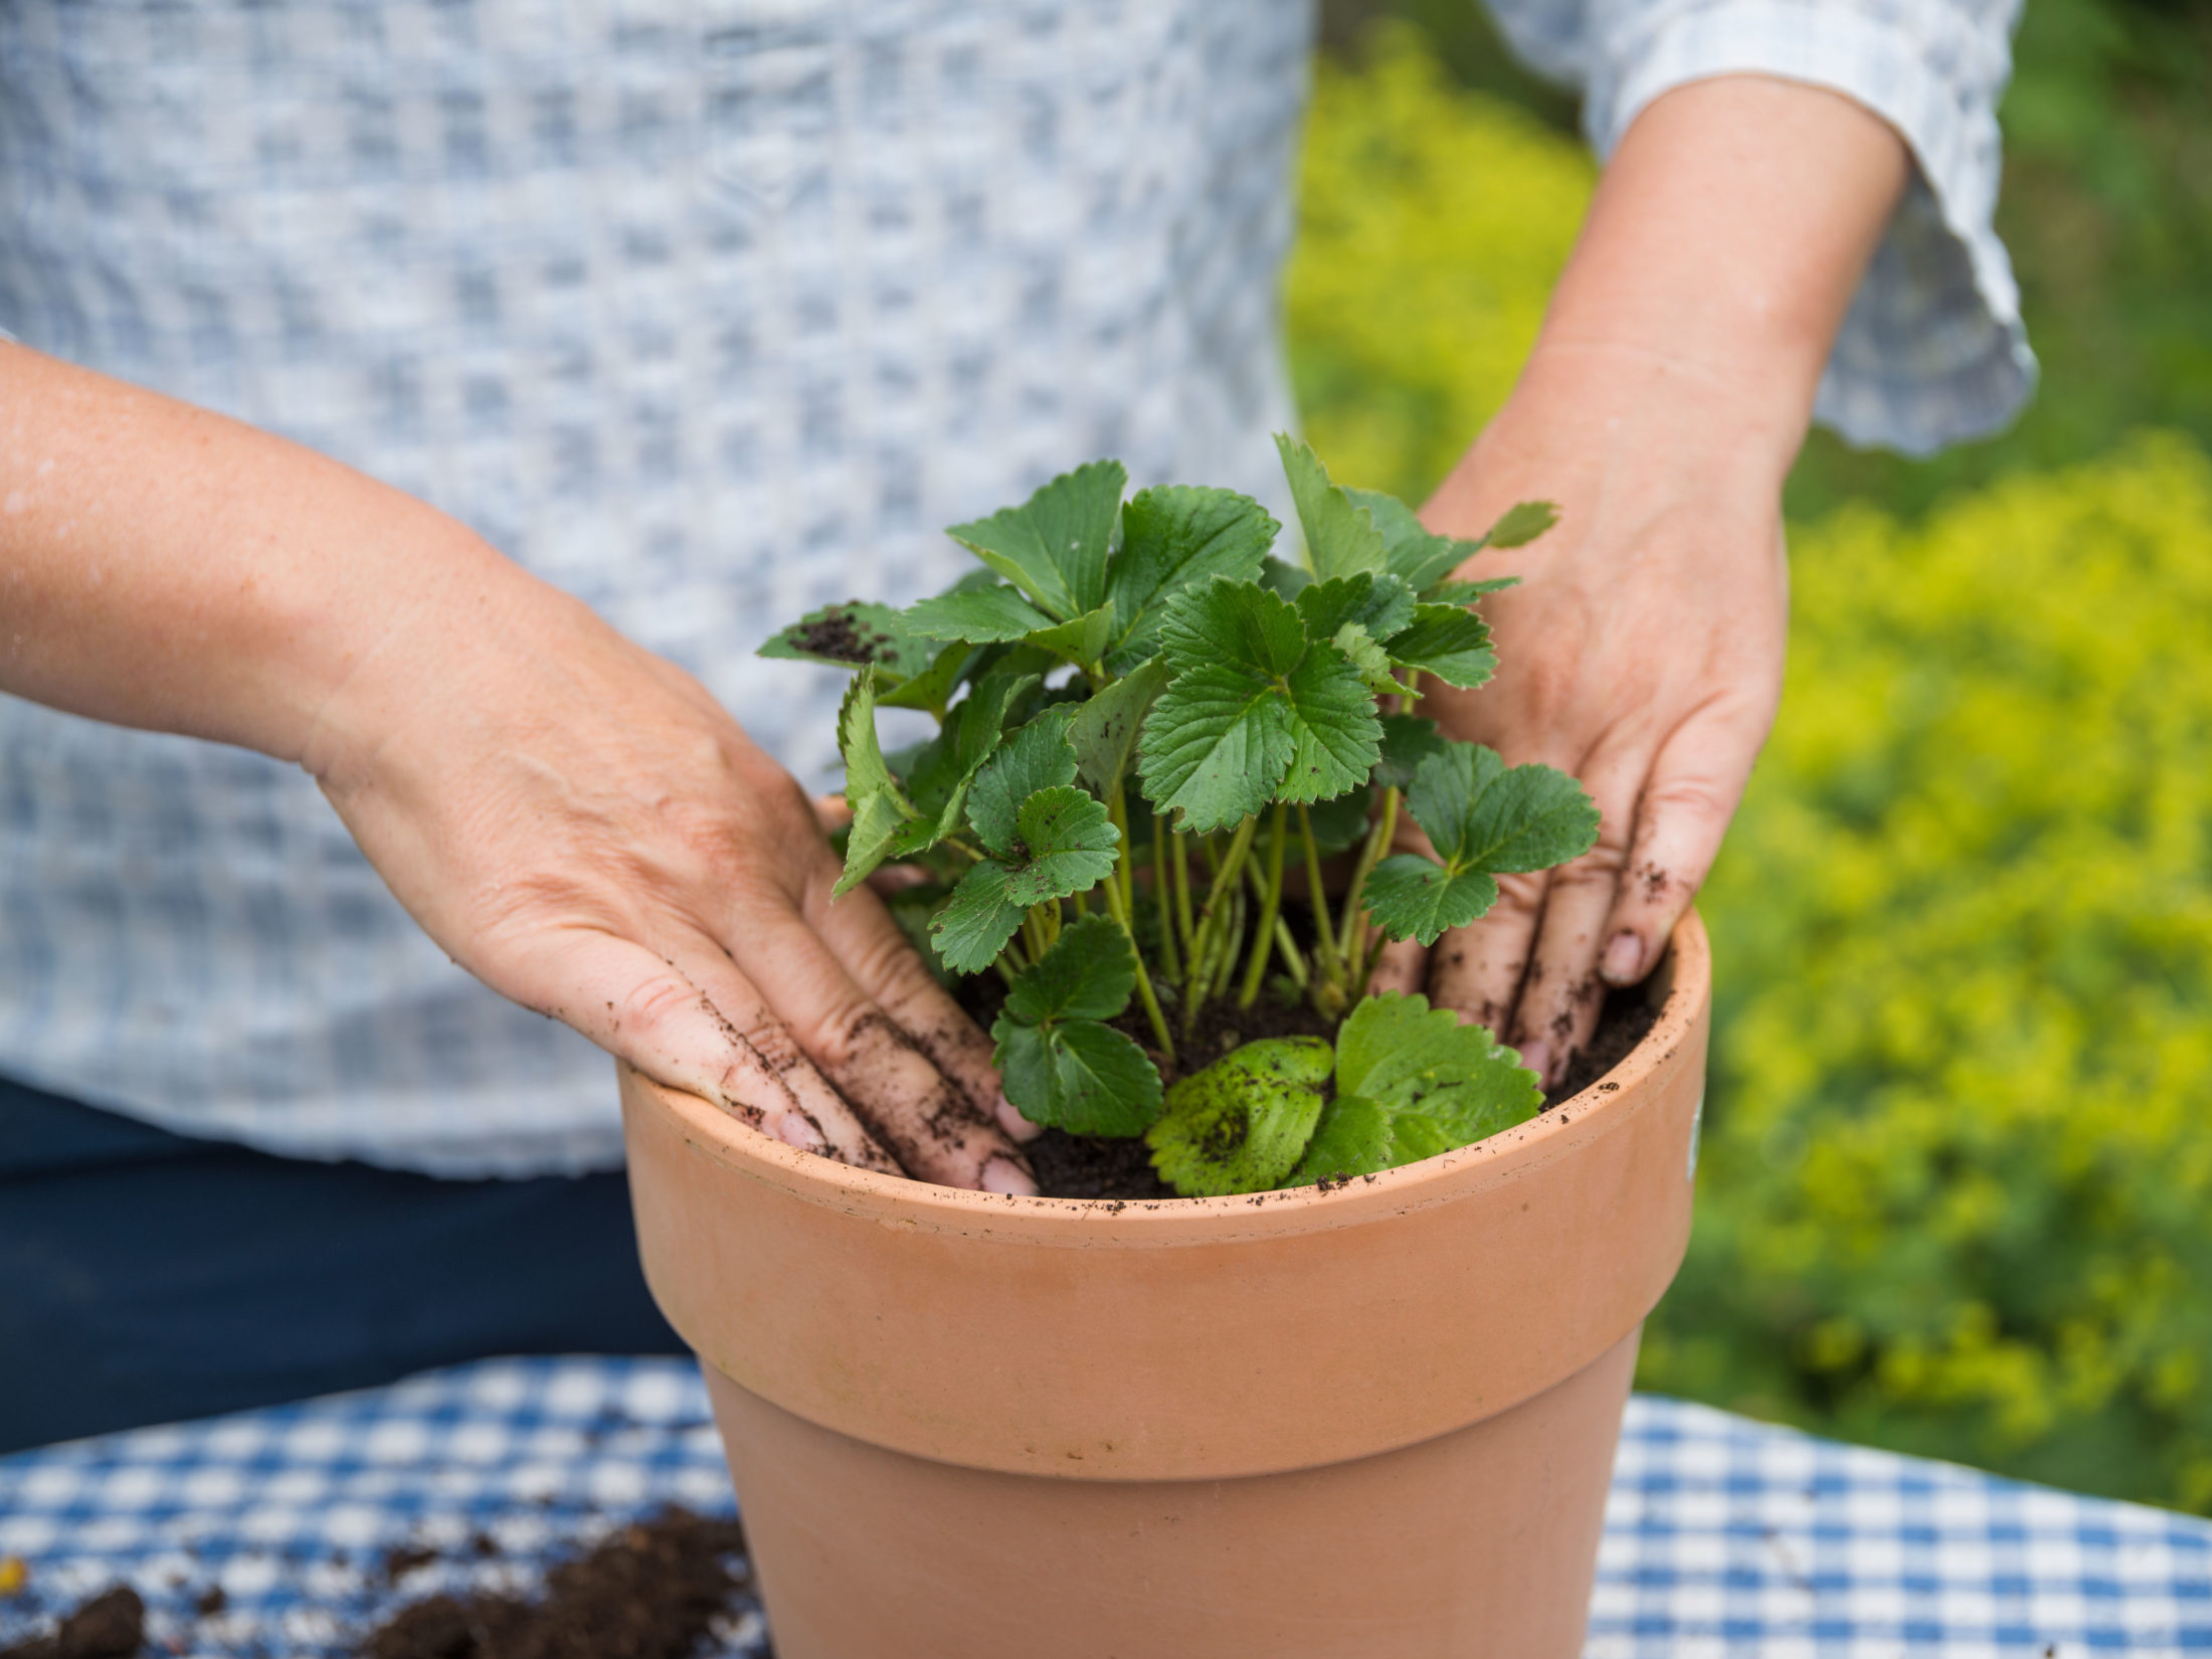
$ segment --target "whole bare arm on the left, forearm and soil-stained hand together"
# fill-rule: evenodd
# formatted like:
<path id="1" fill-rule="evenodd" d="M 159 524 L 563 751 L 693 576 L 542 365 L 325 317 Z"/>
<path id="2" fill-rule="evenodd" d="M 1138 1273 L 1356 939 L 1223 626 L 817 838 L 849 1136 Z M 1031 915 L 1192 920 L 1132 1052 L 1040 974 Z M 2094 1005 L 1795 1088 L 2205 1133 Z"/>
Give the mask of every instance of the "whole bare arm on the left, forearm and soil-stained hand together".
<path id="1" fill-rule="evenodd" d="M 495 991 L 794 1146 L 1035 1190 L 989 1040 L 872 891 L 830 902 L 805 792 L 586 606 L 400 491 L 11 345 L 0 493 L 0 690 L 299 761 Z"/>

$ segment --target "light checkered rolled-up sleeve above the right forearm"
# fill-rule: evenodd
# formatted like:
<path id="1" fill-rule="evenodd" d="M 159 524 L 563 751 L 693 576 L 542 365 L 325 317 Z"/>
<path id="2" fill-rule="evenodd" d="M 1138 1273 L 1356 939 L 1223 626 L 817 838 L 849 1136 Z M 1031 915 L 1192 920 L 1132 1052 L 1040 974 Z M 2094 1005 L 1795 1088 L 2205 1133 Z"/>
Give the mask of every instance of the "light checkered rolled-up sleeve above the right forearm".
<path id="1" fill-rule="evenodd" d="M 1814 418 L 1927 453 L 2004 427 L 2035 389 L 2020 288 L 1991 217 L 1997 97 L 2020 0 L 1491 0 L 1535 69 L 1582 86 L 1610 155 L 1674 86 L 1759 73 L 1889 122 L 1916 175 L 1836 336 Z"/>

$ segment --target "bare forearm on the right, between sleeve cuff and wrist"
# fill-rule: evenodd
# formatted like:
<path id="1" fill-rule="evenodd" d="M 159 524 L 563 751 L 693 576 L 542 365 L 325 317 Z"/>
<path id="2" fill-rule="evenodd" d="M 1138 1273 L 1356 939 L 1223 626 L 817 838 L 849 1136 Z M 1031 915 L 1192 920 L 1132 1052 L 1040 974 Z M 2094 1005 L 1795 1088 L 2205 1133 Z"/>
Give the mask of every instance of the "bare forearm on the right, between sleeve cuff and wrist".
<path id="1" fill-rule="evenodd" d="M 1763 75 L 1666 93 L 1606 166 L 1531 380 L 1604 363 L 1619 398 L 1692 405 L 1778 484 L 1905 179 L 1905 142 L 1838 93 Z"/>

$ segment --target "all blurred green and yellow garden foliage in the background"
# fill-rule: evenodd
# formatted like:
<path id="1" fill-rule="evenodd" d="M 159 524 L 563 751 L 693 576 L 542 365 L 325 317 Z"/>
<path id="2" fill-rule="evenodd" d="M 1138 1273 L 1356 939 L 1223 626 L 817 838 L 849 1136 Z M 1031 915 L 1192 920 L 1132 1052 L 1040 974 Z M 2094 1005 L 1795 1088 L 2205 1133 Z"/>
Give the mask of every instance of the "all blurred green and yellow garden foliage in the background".
<path id="1" fill-rule="evenodd" d="M 1593 168 L 1469 0 L 1329 0 L 1325 42 L 1292 374 L 1329 465 L 1418 500 Z M 2212 1513 L 2212 4 L 2028 0 L 2002 119 L 2042 396 L 1792 478 L 1641 1383 Z"/>

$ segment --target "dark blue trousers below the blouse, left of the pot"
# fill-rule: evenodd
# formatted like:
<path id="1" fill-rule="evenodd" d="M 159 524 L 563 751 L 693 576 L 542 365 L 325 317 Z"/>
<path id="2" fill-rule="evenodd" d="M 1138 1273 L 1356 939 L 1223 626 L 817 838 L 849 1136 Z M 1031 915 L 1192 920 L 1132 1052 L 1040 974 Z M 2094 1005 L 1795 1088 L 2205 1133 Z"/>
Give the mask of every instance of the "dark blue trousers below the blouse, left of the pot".
<path id="1" fill-rule="evenodd" d="M 0 1451 L 491 1354 L 681 1354 L 624 1177 L 440 1181 L 0 1077 Z"/>

